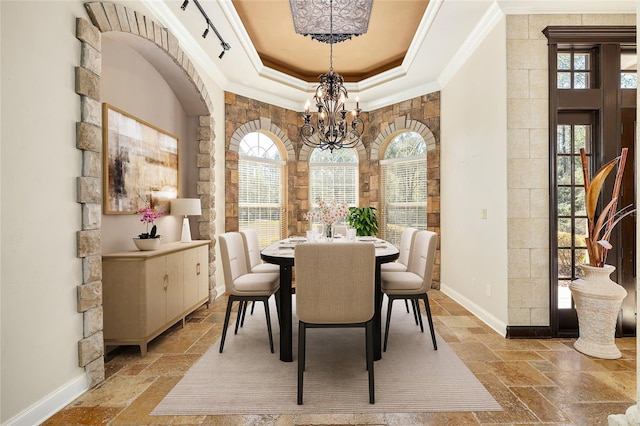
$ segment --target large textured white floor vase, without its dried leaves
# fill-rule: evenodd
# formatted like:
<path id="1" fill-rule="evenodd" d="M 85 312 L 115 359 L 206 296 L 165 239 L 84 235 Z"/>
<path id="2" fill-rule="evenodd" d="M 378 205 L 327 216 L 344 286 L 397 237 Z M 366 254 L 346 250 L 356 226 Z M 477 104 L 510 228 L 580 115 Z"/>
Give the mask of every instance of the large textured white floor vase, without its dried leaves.
<path id="1" fill-rule="evenodd" d="M 580 329 L 573 347 L 596 358 L 620 358 L 622 354 L 615 344 L 616 322 L 627 291 L 609 278 L 614 266 L 579 266 L 584 277 L 569 285 Z"/>

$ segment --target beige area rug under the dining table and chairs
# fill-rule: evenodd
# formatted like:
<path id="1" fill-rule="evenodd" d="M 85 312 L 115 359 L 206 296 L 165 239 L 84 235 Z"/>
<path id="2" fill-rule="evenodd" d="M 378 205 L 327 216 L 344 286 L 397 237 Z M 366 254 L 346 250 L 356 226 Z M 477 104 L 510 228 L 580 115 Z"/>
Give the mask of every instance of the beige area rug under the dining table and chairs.
<path id="1" fill-rule="evenodd" d="M 273 298 L 271 312 L 275 313 Z M 385 301 L 386 307 L 386 301 Z M 295 305 L 294 305 L 295 312 Z M 386 313 L 385 313 L 386 315 Z M 232 320 L 235 316 L 232 315 Z M 356 414 L 501 411 L 451 348 L 437 336 L 434 351 L 425 318 L 420 333 L 404 304 L 394 304 L 387 352 L 374 364 L 376 403 L 369 404 L 364 329 L 307 329 L 304 405 L 296 404 L 297 328 L 294 361 L 279 360 L 279 332 L 272 314 L 274 346 L 269 351 L 262 304 L 247 313 L 244 327 L 230 327 L 220 342 L 191 367 L 152 415 Z M 234 324 L 235 325 L 235 324 Z"/>

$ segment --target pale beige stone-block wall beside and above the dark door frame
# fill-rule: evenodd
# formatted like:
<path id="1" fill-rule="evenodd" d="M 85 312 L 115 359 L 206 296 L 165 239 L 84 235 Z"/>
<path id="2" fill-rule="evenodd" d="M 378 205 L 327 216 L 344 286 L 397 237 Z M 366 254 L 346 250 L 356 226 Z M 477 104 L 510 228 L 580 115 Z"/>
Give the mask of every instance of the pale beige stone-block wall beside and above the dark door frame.
<path id="1" fill-rule="evenodd" d="M 635 25 L 635 15 L 507 16 L 509 325 L 549 324 L 549 25 Z"/>

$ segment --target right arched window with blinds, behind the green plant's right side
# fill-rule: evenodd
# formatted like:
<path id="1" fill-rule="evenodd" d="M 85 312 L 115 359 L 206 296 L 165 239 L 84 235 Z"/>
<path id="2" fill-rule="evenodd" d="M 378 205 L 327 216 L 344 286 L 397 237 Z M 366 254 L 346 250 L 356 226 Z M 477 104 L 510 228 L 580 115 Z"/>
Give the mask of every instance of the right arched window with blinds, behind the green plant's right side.
<path id="1" fill-rule="evenodd" d="M 382 238 L 400 244 L 406 227 L 427 229 L 427 144 L 419 133 L 402 132 L 380 160 Z"/>

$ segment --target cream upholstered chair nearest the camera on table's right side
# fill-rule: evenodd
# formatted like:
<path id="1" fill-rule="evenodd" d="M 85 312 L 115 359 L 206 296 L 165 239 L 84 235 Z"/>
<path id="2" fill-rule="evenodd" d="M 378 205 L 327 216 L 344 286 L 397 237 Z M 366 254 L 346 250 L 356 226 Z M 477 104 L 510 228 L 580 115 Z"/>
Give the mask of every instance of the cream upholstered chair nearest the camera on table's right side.
<path id="1" fill-rule="evenodd" d="M 427 290 L 431 288 L 437 239 L 438 236 L 435 232 L 418 231 L 414 237 L 407 270 L 404 272 L 387 271 L 380 274 L 382 292 L 387 295 L 389 300 L 387 303 L 387 322 L 384 331 L 383 351 L 387 350 L 391 309 L 396 299 L 411 300 L 412 304 L 418 309 L 420 331 L 423 333 L 424 326 L 420 315 L 420 300 L 424 301 L 427 319 L 429 320 L 429 329 L 431 330 L 431 339 L 433 340 L 433 349 L 438 350 L 431 308 L 429 307 L 429 296 L 427 294 Z"/>

